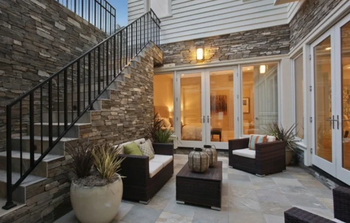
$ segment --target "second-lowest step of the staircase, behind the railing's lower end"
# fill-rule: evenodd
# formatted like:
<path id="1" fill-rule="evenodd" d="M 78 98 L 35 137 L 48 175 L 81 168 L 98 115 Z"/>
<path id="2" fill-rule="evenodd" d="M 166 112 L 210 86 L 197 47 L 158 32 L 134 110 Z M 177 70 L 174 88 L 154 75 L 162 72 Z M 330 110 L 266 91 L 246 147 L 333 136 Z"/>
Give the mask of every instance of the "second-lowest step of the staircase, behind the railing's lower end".
<path id="1" fill-rule="evenodd" d="M 12 172 L 12 185 L 14 185 L 18 179 L 20 178 L 20 174 L 17 172 Z M 12 193 L 12 199 L 14 201 L 25 204 L 27 200 L 27 187 L 44 181 L 46 178 L 35 175 L 28 175 L 23 182 L 16 188 L 16 190 Z M 6 171 L 0 170 L 0 197 L 6 198 Z"/>

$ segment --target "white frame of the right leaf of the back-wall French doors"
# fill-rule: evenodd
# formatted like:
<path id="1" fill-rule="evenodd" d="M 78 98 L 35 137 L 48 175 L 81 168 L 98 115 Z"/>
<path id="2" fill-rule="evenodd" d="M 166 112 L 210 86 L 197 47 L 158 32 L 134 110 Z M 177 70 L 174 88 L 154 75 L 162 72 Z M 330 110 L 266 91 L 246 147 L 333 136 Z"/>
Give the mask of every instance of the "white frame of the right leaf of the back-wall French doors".
<path id="1" fill-rule="evenodd" d="M 225 66 L 225 67 L 217 67 L 217 68 L 208 68 L 205 69 L 205 98 L 206 98 L 206 144 L 215 145 L 216 148 L 220 149 L 228 149 L 228 142 L 211 142 L 211 136 L 210 136 L 210 72 L 213 71 L 223 71 L 223 70 L 232 70 L 233 71 L 233 131 L 234 131 L 234 138 L 238 138 L 238 98 L 239 97 L 239 80 L 238 80 L 238 68 L 237 66 Z M 236 96 L 237 95 L 237 96 Z M 228 99 L 228 98 L 227 98 Z"/>

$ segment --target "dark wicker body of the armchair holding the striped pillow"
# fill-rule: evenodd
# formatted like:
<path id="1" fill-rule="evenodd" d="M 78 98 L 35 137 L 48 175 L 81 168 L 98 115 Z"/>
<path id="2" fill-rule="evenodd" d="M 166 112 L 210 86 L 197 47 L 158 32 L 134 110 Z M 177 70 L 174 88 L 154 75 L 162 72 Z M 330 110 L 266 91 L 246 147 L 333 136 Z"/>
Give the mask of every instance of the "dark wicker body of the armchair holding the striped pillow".
<path id="1" fill-rule="evenodd" d="M 248 148 L 249 138 L 228 141 L 228 166 L 258 176 L 286 170 L 285 145 L 283 141 L 257 143 L 255 159 L 233 155 L 232 151 Z"/>

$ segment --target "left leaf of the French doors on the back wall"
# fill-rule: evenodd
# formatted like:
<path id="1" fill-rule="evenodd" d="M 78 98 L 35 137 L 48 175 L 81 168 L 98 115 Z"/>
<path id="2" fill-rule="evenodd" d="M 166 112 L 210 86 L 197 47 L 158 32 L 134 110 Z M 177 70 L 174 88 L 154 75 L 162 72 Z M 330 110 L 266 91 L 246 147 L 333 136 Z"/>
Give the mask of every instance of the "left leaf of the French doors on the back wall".
<path id="1" fill-rule="evenodd" d="M 205 141 L 205 102 L 202 86 L 204 71 L 180 73 L 178 108 L 180 120 L 180 146 L 202 147 Z"/>

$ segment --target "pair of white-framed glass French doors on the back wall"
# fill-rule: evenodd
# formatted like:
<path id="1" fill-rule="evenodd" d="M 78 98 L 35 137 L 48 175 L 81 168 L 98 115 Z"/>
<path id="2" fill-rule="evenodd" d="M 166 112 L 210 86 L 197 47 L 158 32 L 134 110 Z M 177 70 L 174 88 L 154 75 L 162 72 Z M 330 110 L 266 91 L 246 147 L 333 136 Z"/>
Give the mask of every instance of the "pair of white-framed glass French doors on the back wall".
<path id="1" fill-rule="evenodd" d="M 204 144 L 228 149 L 235 137 L 236 67 L 177 72 L 176 107 L 179 146 Z"/>

